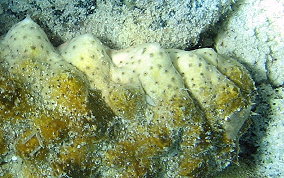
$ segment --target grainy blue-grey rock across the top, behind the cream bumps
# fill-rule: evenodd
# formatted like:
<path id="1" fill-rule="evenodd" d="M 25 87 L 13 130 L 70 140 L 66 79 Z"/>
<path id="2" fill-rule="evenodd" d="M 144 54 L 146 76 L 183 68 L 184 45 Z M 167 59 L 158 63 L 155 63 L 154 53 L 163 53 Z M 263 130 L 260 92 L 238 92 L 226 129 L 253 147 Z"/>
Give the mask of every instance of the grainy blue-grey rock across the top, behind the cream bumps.
<path id="1" fill-rule="evenodd" d="M 233 2 L 1 0 L 0 35 L 29 14 L 57 44 L 92 33 L 116 49 L 151 42 L 163 48 L 185 49 L 197 45 L 200 34 L 216 23 Z"/>

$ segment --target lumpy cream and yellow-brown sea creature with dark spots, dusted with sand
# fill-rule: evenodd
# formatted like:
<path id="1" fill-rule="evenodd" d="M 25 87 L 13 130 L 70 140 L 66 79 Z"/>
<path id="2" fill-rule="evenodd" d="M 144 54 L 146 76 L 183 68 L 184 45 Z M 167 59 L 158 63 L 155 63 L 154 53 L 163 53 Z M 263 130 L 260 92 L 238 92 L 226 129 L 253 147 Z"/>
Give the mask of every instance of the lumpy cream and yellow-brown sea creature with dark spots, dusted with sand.
<path id="1" fill-rule="evenodd" d="M 30 18 L 0 43 L 0 176 L 204 177 L 237 160 L 247 70 L 212 49 L 58 49 Z"/>

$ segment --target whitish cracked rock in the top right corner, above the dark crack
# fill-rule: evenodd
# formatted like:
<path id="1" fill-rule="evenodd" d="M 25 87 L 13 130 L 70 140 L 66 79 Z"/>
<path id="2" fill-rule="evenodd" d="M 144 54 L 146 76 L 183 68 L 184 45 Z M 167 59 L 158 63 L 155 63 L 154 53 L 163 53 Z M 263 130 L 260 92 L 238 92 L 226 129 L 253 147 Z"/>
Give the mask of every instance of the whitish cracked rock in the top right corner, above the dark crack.
<path id="1" fill-rule="evenodd" d="M 281 0 L 240 1 L 218 32 L 218 53 L 246 64 L 256 82 L 283 85 L 283 10 Z"/>

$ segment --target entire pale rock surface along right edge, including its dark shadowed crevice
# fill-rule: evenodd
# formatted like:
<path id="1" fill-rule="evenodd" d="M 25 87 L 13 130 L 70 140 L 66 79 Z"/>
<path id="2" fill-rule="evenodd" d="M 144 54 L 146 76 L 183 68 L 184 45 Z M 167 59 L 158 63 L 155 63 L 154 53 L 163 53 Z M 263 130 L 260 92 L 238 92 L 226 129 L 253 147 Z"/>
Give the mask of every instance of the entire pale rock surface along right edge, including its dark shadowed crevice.
<path id="1" fill-rule="evenodd" d="M 238 59 L 257 87 L 252 127 L 243 157 L 262 177 L 284 177 L 284 1 L 242 0 L 218 28 L 218 53 Z"/>

